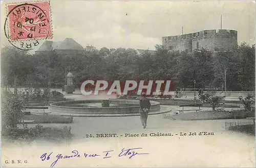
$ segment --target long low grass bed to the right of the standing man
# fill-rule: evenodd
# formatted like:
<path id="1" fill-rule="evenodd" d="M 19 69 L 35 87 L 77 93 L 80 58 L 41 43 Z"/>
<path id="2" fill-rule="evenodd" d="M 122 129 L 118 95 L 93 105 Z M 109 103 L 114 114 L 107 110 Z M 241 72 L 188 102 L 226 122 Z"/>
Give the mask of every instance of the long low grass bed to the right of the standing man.
<path id="1" fill-rule="evenodd" d="M 172 116 L 173 119 L 177 120 L 210 120 L 210 119 L 239 119 L 249 117 L 246 113 L 236 112 L 235 115 L 231 112 L 211 112 L 211 111 L 200 111 L 200 112 L 187 112 L 179 113 L 178 115 Z"/>

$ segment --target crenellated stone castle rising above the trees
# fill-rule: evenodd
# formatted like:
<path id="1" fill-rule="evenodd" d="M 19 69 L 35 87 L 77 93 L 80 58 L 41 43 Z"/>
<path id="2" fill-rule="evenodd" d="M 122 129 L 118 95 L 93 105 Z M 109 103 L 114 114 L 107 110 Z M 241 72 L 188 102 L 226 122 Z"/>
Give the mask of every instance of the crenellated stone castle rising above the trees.
<path id="1" fill-rule="evenodd" d="M 231 51 L 238 46 L 235 30 L 203 30 L 200 32 L 162 37 L 162 44 L 169 51 L 192 52 L 205 48 L 212 52 Z"/>

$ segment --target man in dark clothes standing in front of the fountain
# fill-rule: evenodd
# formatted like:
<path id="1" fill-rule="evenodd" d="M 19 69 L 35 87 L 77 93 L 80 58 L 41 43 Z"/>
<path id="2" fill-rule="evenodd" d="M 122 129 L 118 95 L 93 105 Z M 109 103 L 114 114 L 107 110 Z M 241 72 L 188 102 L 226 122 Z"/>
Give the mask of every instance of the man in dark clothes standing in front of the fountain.
<path id="1" fill-rule="evenodd" d="M 146 93 L 142 92 L 142 98 L 140 98 L 140 119 L 143 128 L 146 128 L 146 120 L 148 112 L 150 112 L 150 100 L 146 98 Z"/>

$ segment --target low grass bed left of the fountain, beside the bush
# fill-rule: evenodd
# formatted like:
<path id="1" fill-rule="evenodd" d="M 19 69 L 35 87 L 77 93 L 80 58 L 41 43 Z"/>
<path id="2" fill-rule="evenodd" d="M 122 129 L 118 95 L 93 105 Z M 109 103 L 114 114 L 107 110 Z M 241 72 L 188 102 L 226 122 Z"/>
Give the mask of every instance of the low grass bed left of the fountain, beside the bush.
<path id="1" fill-rule="evenodd" d="M 72 123 L 73 118 L 63 117 L 54 114 L 31 114 L 25 115 L 24 120 L 34 120 L 32 124 L 42 124 L 42 123 Z"/>

